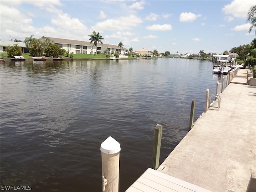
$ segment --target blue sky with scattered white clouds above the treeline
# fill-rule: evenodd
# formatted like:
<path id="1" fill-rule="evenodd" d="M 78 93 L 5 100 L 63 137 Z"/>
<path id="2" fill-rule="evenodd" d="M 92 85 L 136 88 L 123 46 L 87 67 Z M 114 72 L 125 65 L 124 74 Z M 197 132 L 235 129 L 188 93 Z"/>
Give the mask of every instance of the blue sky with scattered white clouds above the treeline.
<path id="1" fill-rule="evenodd" d="M 0 0 L 0 40 L 30 35 L 89 41 L 171 54 L 223 53 L 250 44 L 255 0 Z"/>

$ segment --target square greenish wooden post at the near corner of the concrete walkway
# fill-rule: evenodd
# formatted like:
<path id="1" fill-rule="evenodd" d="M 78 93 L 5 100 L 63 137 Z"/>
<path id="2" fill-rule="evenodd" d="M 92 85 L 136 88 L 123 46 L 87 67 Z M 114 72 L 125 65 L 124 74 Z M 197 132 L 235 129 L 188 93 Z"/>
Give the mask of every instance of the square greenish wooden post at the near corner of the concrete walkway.
<path id="1" fill-rule="evenodd" d="M 152 169 L 154 170 L 156 170 L 159 167 L 162 131 L 163 131 L 163 126 L 160 124 L 157 124 L 155 127 L 153 158 L 152 158 Z"/>

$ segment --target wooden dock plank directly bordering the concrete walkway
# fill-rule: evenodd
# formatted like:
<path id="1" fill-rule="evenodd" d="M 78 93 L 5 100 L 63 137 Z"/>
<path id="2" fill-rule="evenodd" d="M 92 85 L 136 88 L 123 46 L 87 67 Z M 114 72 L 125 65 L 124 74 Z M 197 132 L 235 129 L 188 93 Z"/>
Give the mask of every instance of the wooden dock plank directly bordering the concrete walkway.
<path id="1" fill-rule="evenodd" d="M 151 169 L 151 168 L 148 168 L 146 170 L 146 172 L 150 173 L 150 174 L 153 174 L 155 176 L 158 176 L 158 177 L 160 177 L 162 179 L 171 181 L 171 182 L 173 182 L 173 183 L 175 183 L 177 185 L 183 186 L 183 187 L 188 188 L 188 189 L 190 189 L 192 191 L 195 191 L 195 192 L 210 192 L 209 190 L 206 190 L 204 188 L 201 188 L 199 186 L 196 186 L 196 185 L 191 184 L 189 182 L 186 182 L 186 181 L 180 180 L 178 178 L 172 177 L 170 175 L 164 174 L 162 172 L 156 171 L 156 170 Z"/>

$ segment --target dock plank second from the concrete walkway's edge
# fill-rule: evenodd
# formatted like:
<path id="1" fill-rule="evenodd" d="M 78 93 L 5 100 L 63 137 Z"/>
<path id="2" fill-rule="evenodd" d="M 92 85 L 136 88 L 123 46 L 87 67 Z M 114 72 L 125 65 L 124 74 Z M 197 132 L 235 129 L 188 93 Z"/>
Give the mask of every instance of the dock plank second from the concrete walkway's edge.
<path id="1" fill-rule="evenodd" d="M 147 173 L 147 172 L 145 172 L 145 173 L 142 175 L 142 177 L 145 177 L 145 178 L 147 178 L 148 180 L 151 180 L 151 182 L 152 182 L 152 181 L 153 181 L 153 182 L 157 182 L 157 183 L 159 183 L 159 184 L 161 184 L 161 185 L 163 185 L 163 186 L 166 186 L 166 187 L 168 187 L 168 188 L 170 188 L 170 189 L 172 189 L 172 190 L 174 190 L 174 191 L 194 192 L 193 190 L 190 190 L 190 189 L 188 189 L 188 188 L 185 188 L 185 187 L 183 187 L 183 186 L 180 186 L 180 185 L 175 184 L 175 183 L 173 183 L 173 182 L 171 182 L 171 181 L 162 179 L 162 178 L 160 178 L 160 177 L 158 177 L 158 176 L 152 175 L 152 174 Z"/>

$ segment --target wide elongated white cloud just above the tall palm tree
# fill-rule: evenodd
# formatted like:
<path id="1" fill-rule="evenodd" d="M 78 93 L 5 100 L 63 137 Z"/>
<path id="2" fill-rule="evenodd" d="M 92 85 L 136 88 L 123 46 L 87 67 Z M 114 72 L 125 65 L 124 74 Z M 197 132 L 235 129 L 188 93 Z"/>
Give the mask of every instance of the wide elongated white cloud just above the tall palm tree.
<path id="1" fill-rule="evenodd" d="M 121 16 L 98 22 L 94 26 L 92 26 L 92 30 L 130 30 L 132 27 L 135 27 L 140 23 L 142 23 L 142 19 L 137 16 Z"/>

